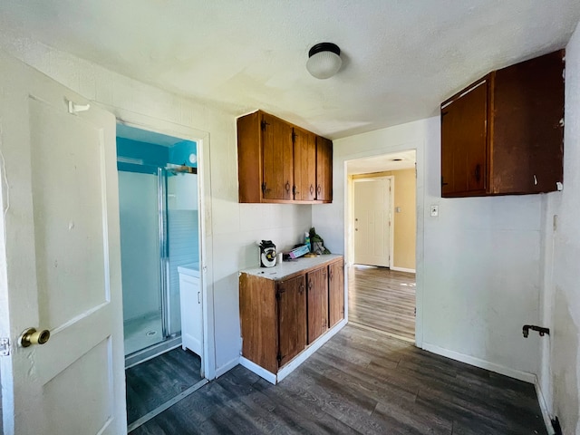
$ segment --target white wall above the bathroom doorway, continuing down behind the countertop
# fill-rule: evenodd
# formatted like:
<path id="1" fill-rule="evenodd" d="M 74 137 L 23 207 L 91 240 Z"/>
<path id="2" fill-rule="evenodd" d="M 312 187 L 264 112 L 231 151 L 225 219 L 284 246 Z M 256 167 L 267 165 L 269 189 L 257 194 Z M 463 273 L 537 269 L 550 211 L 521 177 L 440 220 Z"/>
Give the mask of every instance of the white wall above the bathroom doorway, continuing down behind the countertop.
<path id="1" fill-rule="evenodd" d="M 215 358 L 218 374 L 236 364 L 241 350 L 237 272 L 258 265 L 258 239 L 272 239 L 278 247 L 297 243 L 311 226 L 311 206 L 237 203 L 236 114 L 161 91 L 42 43 L 6 37 L 0 47 L 116 116 L 139 120 L 143 128 L 160 131 L 163 126 L 160 132 L 183 137 L 179 131 L 186 127 L 205 136 L 205 148 L 198 152 L 205 165 L 200 169 L 206 204 L 202 243 L 208 254 L 207 302 L 213 307 L 209 324 L 215 328 L 216 342 L 215 355 L 208 358 Z"/>

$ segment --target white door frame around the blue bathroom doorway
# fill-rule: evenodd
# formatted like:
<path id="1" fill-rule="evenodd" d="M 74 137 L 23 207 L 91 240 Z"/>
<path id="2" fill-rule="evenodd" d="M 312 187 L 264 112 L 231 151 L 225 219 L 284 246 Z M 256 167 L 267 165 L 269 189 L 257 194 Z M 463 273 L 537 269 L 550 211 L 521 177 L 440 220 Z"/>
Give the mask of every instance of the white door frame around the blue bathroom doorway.
<path id="1" fill-rule="evenodd" d="M 216 377 L 215 358 L 215 328 L 214 328 L 214 295 L 213 295 L 213 267 L 212 240 L 208 237 L 208 226 L 206 222 L 211 209 L 210 196 L 210 151 L 209 133 L 176 124 L 169 121 L 162 121 L 157 118 L 119 109 L 110 105 L 95 103 L 106 111 L 115 115 L 118 123 L 144 131 L 153 131 L 160 134 L 176 137 L 183 140 L 193 140 L 198 144 L 198 214 L 199 214 L 199 279 L 202 294 L 203 313 L 203 353 L 202 372 L 206 379 L 211 380 Z"/>

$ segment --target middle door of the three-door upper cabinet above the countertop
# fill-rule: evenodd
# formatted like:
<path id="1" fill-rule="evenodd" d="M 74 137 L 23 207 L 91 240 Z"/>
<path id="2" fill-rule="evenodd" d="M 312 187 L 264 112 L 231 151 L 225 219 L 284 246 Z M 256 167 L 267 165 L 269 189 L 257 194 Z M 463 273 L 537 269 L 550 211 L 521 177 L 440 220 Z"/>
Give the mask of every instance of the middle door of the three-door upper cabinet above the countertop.
<path id="1" fill-rule="evenodd" d="M 294 129 L 294 177 L 296 201 L 316 198 L 316 136 Z"/>

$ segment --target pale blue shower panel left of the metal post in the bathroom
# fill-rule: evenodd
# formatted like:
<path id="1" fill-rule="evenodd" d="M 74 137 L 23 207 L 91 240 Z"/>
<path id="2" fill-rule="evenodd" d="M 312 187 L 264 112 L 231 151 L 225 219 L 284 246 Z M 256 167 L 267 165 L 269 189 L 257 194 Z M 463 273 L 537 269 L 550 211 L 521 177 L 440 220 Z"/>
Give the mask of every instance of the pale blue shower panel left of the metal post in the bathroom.
<path id="1" fill-rule="evenodd" d="M 125 355 L 164 340 L 156 173 L 119 171 Z"/>

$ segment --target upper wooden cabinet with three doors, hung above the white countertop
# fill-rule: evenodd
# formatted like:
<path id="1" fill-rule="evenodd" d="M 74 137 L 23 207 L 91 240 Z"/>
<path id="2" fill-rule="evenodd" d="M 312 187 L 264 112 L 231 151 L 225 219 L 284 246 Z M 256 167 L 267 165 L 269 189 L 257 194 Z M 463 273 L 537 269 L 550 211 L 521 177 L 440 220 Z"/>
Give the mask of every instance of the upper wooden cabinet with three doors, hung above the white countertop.
<path id="1" fill-rule="evenodd" d="M 237 119 L 239 202 L 332 202 L 333 142 L 256 111 Z"/>

